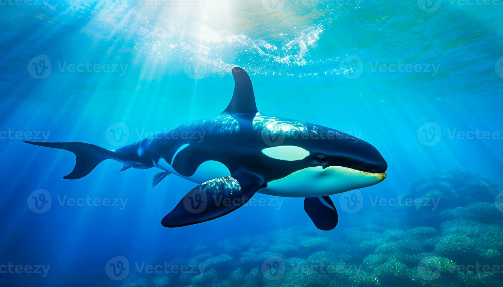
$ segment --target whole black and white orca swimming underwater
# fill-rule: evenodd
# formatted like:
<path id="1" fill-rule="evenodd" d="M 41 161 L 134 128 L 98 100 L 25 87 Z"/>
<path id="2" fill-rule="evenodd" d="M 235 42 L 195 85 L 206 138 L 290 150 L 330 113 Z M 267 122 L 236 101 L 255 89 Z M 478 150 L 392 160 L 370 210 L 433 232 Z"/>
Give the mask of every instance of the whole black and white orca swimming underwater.
<path id="1" fill-rule="evenodd" d="M 329 196 L 381 182 L 387 163 L 369 143 L 320 125 L 260 114 L 248 74 L 232 69 L 234 93 L 215 117 L 108 150 L 83 142 L 26 143 L 73 152 L 75 167 L 66 179 L 89 174 L 114 159 L 128 168 L 159 168 L 152 187 L 175 174 L 197 184 L 161 221 L 181 227 L 224 216 L 255 193 L 304 199 L 318 229 L 331 230 L 338 214 Z M 197 131 L 204 139 L 171 137 Z"/>

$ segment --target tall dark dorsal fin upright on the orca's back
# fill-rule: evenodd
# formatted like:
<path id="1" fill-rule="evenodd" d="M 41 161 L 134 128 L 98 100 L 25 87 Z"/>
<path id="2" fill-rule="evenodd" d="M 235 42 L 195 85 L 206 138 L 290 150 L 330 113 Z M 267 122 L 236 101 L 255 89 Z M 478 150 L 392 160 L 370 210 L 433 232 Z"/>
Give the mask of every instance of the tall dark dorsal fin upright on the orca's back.
<path id="1" fill-rule="evenodd" d="M 255 94 L 248 74 L 239 67 L 232 69 L 234 76 L 234 94 L 224 113 L 229 114 L 257 114 Z"/>

